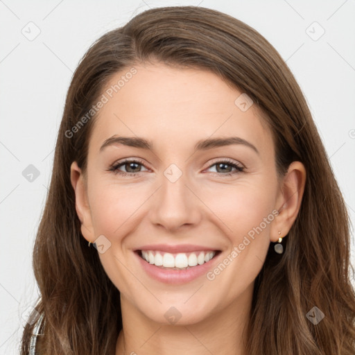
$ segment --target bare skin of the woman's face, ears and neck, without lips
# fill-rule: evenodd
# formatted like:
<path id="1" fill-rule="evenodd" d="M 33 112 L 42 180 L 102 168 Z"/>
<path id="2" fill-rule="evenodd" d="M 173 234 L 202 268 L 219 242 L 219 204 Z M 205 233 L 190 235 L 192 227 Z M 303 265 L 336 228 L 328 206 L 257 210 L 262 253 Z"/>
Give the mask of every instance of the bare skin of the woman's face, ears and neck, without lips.
<path id="1" fill-rule="evenodd" d="M 241 92 L 214 73 L 173 69 L 164 64 L 135 66 L 137 74 L 101 108 L 89 141 L 87 171 L 71 165 L 76 210 L 87 241 L 103 235 L 111 245 L 99 257 L 121 293 L 123 331 L 119 354 L 245 354 L 243 329 L 250 318 L 252 290 L 270 241 L 290 230 L 300 209 L 306 173 L 293 162 L 278 179 L 272 135 L 256 105 L 242 112 Z M 110 85 L 128 70 L 116 73 Z M 112 137 L 143 137 L 155 150 L 107 146 Z M 241 137 L 243 144 L 195 151 L 200 139 Z M 139 158 L 137 175 L 109 171 L 123 158 Z M 223 158 L 244 167 L 239 172 Z M 171 182 L 171 164 L 182 176 Z M 132 174 L 130 166 L 119 170 Z M 140 172 L 139 172 L 140 168 Z M 225 175 L 227 172 L 233 175 Z M 223 261 L 253 227 L 272 213 L 254 240 L 217 275 L 185 284 L 152 279 L 137 262 L 139 246 L 207 245 Z M 279 234 L 281 232 L 281 234 Z M 174 306 L 181 318 L 169 323 Z"/>

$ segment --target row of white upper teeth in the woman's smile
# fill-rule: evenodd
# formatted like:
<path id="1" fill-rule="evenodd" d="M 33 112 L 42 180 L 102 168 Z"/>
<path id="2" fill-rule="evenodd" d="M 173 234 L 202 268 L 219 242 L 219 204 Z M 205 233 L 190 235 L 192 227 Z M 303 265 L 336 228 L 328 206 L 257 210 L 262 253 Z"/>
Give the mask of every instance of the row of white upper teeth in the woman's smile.
<path id="1" fill-rule="evenodd" d="M 154 250 L 142 250 L 141 257 L 155 266 L 164 268 L 188 268 L 202 265 L 210 261 L 216 252 L 191 252 L 187 255 L 184 252 L 171 254 L 170 252 L 156 252 Z"/>

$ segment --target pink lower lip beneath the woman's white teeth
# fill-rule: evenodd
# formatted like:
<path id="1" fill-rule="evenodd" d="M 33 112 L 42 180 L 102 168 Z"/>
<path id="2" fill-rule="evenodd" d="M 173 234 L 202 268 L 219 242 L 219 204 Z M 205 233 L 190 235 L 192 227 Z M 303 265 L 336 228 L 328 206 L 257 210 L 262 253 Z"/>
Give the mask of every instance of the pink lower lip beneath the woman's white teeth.
<path id="1" fill-rule="evenodd" d="M 165 284 L 185 284 L 187 282 L 191 282 L 194 279 L 202 275 L 206 275 L 207 272 L 211 269 L 211 267 L 216 263 L 216 259 L 218 259 L 219 254 L 216 255 L 213 259 L 207 261 L 207 263 L 203 263 L 202 265 L 193 266 L 191 268 L 185 270 L 171 270 L 159 268 L 151 263 L 148 263 L 145 259 L 141 258 L 138 252 L 135 252 L 141 266 L 144 268 L 146 273 L 156 279 L 159 282 L 164 282 Z"/>

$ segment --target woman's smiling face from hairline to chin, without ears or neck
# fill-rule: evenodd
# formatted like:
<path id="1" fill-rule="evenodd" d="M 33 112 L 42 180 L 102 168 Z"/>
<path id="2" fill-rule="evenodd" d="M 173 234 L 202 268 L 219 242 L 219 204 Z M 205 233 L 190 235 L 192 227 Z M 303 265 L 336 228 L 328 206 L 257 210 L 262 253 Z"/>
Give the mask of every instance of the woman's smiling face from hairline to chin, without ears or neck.
<path id="1" fill-rule="evenodd" d="M 135 69 L 101 96 L 78 214 L 123 304 L 191 324 L 248 304 L 279 237 L 272 136 L 214 73 Z"/>

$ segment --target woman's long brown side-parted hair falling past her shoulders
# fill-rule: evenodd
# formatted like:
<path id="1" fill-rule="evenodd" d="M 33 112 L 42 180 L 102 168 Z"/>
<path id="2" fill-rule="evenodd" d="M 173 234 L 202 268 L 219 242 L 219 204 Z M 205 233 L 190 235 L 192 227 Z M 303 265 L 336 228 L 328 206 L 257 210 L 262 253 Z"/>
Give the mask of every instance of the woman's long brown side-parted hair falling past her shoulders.
<path id="1" fill-rule="evenodd" d="M 257 31 L 194 6 L 142 12 L 96 41 L 73 75 L 33 251 L 36 309 L 44 313 L 41 354 L 114 354 L 122 329 L 119 291 L 80 233 L 70 181 L 71 162 L 85 171 L 95 116 L 68 132 L 114 73 L 150 60 L 211 71 L 248 94 L 271 128 L 279 174 L 295 160 L 306 167 L 302 206 L 284 239 L 284 254 L 273 252 L 270 243 L 255 280 L 248 354 L 354 355 L 349 217 L 301 89 Z M 314 306 L 324 313 L 318 324 L 306 316 Z M 33 325 L 24 329 L 22 355 L 28 354 Z"/>

